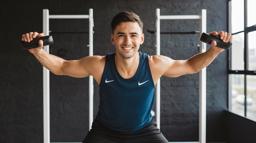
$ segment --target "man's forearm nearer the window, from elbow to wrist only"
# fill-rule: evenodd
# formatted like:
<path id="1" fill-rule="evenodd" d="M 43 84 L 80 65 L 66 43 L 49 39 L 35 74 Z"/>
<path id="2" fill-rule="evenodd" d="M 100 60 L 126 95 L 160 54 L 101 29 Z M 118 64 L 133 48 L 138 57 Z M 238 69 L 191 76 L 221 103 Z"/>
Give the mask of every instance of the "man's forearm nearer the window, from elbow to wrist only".
<path id="1" fill-rule="evenodd" d="M 218 56 L 220 52 L 216 52 L 213 48 L 209 48 L 206 52 L 196 54 L 189 58 L 189 64 L 194 69 L 195 73 L 199 72 L 204 67 L 207 67 Z"/>

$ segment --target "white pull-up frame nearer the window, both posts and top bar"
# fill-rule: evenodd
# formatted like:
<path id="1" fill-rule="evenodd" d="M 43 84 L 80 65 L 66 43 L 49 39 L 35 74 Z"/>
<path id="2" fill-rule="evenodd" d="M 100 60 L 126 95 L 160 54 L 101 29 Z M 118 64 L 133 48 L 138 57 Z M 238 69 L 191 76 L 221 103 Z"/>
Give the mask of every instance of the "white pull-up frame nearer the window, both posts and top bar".
<path id="1" fill-rule="evenodd" d="M 160 55 L 160 20 L 200 20 L 200 35 L 206 32 L 206 9 L 200 15 L 160 15 L 156 9 L 156 55 Z M 200 40 L 199 40 L 200 41 Z M 200 41 L 200 53 L 206 51 L 206 43 Z M 206 142 L 206 68 L 199 73 L 199 143 Z M 160 79 L 156 84 L 156 122 L 160 129 Z"/>

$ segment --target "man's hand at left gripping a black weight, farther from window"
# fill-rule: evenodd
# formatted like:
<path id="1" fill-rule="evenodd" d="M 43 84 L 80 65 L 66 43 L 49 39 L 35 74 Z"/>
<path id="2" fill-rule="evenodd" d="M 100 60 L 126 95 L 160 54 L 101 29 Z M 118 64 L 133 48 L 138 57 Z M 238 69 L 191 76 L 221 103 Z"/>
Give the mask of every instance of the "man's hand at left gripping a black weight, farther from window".
<path id="1" fill-rule="evenodd" d="M 33 38 L 42 37 L 42 36 L 45 36 L 45 34 L 38 33 L 38 32 L 29 32 L 29 33 L 22 35 L 21 41 L 30 42 L 33 40 Z M 37 48 L 29 49 L 29 52 L 31 52 L 32 54 L 40 52 L 40 50 L 43 49 L 43 40 L 39 40 L 38 45 L 39 45 L 39 47 L 37 47 Z"/>

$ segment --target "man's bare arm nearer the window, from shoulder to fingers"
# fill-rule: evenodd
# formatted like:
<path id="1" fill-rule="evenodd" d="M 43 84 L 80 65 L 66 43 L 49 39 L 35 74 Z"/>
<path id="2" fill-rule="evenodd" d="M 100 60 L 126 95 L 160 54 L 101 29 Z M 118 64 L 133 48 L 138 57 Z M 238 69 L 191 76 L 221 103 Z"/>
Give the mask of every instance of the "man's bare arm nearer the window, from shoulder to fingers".
<path id="1" fill-rule="evenodd" d="M 231 34 L 227 32 L 210 32 L 209 34 L 219 35 L 224 42 L 232 41 Z M 187 60 L 173 60 L 166 56 L 151 56 L 149 61 L 154 82 L 156 83 L 161 76 L 178 77 L 199 72 L 204 67 L 207 67 L 220 52 L 224 51 L 224 49 L 218 48 L 216 45 L 216 41 L 212 41 L 211 48 L 206 52 L 196 54 Z"/>

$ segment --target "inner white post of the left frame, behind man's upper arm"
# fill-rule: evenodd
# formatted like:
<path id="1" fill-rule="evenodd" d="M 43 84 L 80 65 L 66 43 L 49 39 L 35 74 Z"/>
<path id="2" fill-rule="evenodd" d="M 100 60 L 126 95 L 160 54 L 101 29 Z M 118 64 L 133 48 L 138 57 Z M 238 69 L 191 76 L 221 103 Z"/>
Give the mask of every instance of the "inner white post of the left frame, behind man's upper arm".
<path id="1" fill-rule="evenodd" d="M 89 56 L 93 55 L 93 9 L 89 9 Z M 89 131 L 93 121 L 93 77 L 89 76 Z"/>

